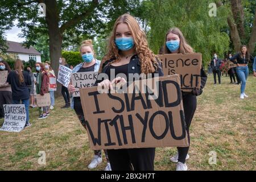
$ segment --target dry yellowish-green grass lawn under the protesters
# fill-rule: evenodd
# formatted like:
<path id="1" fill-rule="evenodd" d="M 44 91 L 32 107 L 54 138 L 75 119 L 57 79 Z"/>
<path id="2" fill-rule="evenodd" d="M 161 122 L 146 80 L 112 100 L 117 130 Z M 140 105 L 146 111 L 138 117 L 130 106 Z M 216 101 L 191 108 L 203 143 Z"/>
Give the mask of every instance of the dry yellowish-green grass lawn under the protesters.
<path id="1" fill-rule="evenodd" d="M 256 169 L 256 78 L 249 76 L 246 94 L 240 100 L 240 85 L 213 85 L 208 77 L 204 93 L 198 97 L 191 124 L 189 170 Z M 88 170 L 93 156 L 85 129 L 71 109 L 60 109 L 63 98 L 47 119 L 38 119 L 38 109 L 30 110 L 31 127 L 20 133 L 0 131 L 0 170 Z M 0 119 L 2 126 L 3 119 Z M 38 164 L 39 151 L 46 152 L 46 165 Z M 210 165 L 209 152 L 217 154 Z M 155 169 L 175 170 L 170 156 L 176 148 L 156 148 Z M 104 158 L 96 170 L 104 170 Z"/>

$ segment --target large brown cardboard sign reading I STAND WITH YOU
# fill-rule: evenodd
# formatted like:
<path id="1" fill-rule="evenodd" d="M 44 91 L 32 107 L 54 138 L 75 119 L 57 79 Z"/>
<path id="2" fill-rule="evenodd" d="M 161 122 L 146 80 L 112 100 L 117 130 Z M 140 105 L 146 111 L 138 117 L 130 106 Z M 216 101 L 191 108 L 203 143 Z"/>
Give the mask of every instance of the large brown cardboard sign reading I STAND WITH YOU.
<path id="1" fill-rule="evenodd" d="M 141 92 L 146 85 L 134 86 L 133 93 L 100 94 L 96 86 L 80 89 L 82 124 L 92 150 L 188 146 L 179 82 L 178 75 L 159 77 L 156 100 Z"/>

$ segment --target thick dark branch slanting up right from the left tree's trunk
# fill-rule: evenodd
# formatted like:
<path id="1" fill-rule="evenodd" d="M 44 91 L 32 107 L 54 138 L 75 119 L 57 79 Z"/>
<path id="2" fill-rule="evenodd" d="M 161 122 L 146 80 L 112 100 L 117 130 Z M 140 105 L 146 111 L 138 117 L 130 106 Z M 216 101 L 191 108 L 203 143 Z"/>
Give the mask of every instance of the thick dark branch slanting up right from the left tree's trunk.
<path id="1" fill-rule="evenodd" d="M 98 5 L 98 0 L 93 0 L 92 3 L 90 4 L 90 6 L 88 7 L 88 10 L 85 11 L 84 13 L 80 14 L 80 15 L 75 15 L 71 20 L 69 20 L 68 22 L 64 23 L 61 27 L 60 27 L 60 33 L 63 34 L 63 32 L 70 27 L 75 26 L 77 23 L 79 23 L 83 18 L 85 18 L 86 16 L 88 16 L 90 13 L 92 13 L 92 11 L 94 10 L 94 8 Z"/>

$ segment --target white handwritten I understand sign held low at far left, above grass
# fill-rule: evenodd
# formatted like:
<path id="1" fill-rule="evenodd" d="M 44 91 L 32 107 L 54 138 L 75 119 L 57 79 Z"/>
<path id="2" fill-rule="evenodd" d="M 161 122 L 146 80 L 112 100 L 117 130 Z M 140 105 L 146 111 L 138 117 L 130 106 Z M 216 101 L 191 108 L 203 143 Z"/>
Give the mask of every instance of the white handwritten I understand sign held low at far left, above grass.
<path id="1" fill-rule="evenodd" d="M 5 112 L 5 122 L 3 122 L 0 131 L 22 131 L 27 118 L 25 105 L 6 104 L 3 105 L 3 110 Z"/>

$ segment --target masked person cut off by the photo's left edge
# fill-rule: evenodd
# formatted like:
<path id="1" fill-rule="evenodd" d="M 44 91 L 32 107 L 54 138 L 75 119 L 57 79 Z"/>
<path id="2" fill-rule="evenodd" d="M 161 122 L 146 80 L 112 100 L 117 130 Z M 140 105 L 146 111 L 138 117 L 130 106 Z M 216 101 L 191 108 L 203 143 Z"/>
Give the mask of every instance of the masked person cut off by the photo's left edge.
<path id="1" fill-rule="evenodd" d="M 11 85 L 6 82 L 7 75 L 11 72 L 11 68 L 6 61 L 0 61 L 0 118 L 5 117 L 3 111 L 4 104 L 11 104 Z"/>

